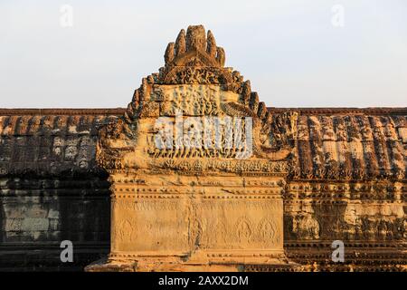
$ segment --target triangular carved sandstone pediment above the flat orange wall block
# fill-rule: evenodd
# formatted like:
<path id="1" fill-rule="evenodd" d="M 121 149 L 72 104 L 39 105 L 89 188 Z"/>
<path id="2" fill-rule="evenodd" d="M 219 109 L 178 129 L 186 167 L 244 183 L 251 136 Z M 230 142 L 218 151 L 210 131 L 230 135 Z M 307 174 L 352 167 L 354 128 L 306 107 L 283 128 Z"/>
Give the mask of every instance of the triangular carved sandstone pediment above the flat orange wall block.
<path id="1" fill-rule="evenodd" d="M 204 26 L 189 26 L 186 34 L 181 30 L 175 43 L 167 46 L 165 66 L 159 73 L 143 79 L 128 104 L 123 121 L 113 126 L 114 130 L 106 128 L 102 133 L 104 138 L 99 151 L 104 150 L 106 154 L 99 154 L 101 160 L 109 159 L 111 152 L 112 158 L 119 161 L 105 163 L 114 164 L 116 168 L 139 167 L 140 160 L 147 160 L 143 161 L 147 167 L 177 170 L 182 169 L 185 162 L 189 164 L 184 167 L 187 170 L 192 167 L 275 170 L 276 166 L 269 163 L 287 160 L 295 146 L 297 113 L 272 114 L 264 102 L 259 102 L 257 92 L 251 92 L 249 81 L 243 81 L 241 74 L 232 68 L 223 67 L 224 60 L 223 49 L 216 46 L 210 31 L 205 33 Z M 209 138 L 191 137 L 191 131 L 205 136 L 208 120 L 214 119 L 222 119 L 222 127 L 210 127 L 215 129 Z M 175 125 L 161 128 L 162 124 L 158 126 L 157 121 L 162 120 Z M 182 120 L 184 126 L 178 135 L 177 120 Z M 230 124 L 235 127 L 227 127 Z M 169 132 L 169 137 L 161 140 L 165 148 L 157 147 L 156 135 L 160 131 Z M 245 141 L 242 145 L 228 145 L 230 140 L 240 138 Z M 183 140 L 193 140 L 195 145 L 188 147 L 182 144 Z M 248 140 L 252 140 L 250 150 Z M 208 142 L 209 148 L 206 147 Z M 132 152 L 137 153 L 137 158 L 126 160 L 124 156 Z M 242 157 L 246 160 L 233 160 Z M 211 159 L 217 161 L 211 163 L 208 161 Z M 227 169 L 222 169 L 220 160 L 230 160 Z M 137 166 L 130 165 L 136 163 Z"/>

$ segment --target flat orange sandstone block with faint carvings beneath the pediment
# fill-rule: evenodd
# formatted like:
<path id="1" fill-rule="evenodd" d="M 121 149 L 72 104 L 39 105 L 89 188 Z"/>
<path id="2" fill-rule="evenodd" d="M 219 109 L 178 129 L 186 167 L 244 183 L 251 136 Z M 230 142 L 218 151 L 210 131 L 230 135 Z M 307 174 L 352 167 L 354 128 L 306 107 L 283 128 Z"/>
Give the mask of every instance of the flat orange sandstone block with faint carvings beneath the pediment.
<path id="1" fill-rule="evenodd" d="M 136 270 L 284 265 L 282 178 L 112 175 L 111 253 Z"/>

